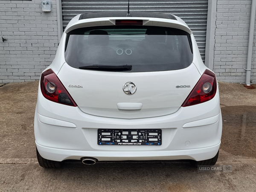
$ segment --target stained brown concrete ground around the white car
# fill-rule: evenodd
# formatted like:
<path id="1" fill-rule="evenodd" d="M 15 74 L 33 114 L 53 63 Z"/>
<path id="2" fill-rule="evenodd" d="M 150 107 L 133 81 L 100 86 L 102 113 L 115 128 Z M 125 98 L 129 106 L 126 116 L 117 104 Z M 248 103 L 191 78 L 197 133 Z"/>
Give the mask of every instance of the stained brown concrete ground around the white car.
<path id="1" fill-rule="evenodd" d="M 0 87 L 0 192 L 256 192 L 256 89 L 219 82 L 223 116 L 217 165 L 198 172 L 186 161 L 66 163 L 43 169 L 36 160 L 33 118 L 38 81 Z"/>

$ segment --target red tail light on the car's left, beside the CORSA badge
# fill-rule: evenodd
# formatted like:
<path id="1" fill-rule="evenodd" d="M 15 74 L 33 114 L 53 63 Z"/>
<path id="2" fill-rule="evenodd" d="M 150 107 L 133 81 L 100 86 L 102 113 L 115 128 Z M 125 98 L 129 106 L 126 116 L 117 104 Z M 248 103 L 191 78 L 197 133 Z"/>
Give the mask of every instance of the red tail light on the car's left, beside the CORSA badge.
<path id="1" fill-rule="evenodd" d="M 61 81 L 51 69 L 42 73 L 40 87 L 46 99 L 64 105 L 77 106 L 76 102 L 74 102 Z"/>

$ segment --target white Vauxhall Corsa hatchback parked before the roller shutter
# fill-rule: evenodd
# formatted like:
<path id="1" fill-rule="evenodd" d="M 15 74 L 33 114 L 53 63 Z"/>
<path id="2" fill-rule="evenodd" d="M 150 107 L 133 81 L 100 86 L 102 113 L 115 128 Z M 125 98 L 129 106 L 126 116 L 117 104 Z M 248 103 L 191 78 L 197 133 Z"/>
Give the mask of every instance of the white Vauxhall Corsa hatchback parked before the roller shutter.
<path id="1" fill-rule="evenodd" d="M 64 160 L 191 160 L 214 165 L 222 118 L 215 74 L 175 15 L 81 14 L 41 75 L 40 166 Z"/>

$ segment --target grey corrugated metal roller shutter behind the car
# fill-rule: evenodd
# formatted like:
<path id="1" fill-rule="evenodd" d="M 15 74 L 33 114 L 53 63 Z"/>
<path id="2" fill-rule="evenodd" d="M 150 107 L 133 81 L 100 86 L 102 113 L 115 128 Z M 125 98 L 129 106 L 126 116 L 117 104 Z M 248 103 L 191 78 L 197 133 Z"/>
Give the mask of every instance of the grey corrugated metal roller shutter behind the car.
<path id="1" fill-rule="evenodd" d="M 62 0 L 63 27 L 80 13 L 127 10 L 128 0 Z M 130 0 L 130 11 L 171 13 L 193 31 L 201 56 L 205 57 L 208 0 Z"/>

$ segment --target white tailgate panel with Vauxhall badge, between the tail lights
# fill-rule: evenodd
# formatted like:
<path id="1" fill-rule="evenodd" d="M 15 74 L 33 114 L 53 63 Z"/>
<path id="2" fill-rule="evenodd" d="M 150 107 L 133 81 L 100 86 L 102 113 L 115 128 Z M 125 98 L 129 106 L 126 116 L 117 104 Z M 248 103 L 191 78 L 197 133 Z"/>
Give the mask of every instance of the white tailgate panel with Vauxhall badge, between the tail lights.
<path id="1" fill-rule="evenodd" d="M 58 78 L 84 113 L 135 119 L 175 113 L 201 75 L 192 63 L 181 70 L 124 73 L 81 70 L 63 65 Z M 137 90 L 126 94 L 123 86 L 132 81 Z M 177 87 L 179 86 L 179 87 Z M 141 109 L 119 109 L 119 106 Z"/>

